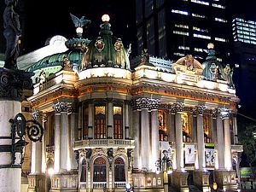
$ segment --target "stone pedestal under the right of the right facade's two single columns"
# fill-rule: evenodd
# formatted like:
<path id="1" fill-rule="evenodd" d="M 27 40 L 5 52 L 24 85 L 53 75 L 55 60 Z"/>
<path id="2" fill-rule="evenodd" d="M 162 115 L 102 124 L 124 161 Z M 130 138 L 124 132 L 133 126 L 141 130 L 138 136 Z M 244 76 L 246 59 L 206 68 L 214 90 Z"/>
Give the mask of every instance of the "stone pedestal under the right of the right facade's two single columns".
<path id="1" fill-rule="evenodd" d="M 195 185 L 205 192 L 210 192 L 211 189 L 209 187 L 209 176 L 210 172 L 194 172 L 194 181 Z"/>

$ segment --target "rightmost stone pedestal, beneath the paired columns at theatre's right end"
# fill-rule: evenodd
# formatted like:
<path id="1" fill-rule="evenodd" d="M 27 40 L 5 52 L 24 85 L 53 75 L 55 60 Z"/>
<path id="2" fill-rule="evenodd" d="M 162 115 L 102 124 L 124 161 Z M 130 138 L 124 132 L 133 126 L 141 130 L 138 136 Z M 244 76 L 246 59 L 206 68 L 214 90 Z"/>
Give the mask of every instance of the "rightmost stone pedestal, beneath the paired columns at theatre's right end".
<path id="1" fill-rule="evenodd" d="M 218 183 L 218 188 L 224 189 L 225 191 L 236 191 L 237 183 L 236 183 L 236 172 L 230 171 L 218 171 L 215 172 L 216 182 Z"/>

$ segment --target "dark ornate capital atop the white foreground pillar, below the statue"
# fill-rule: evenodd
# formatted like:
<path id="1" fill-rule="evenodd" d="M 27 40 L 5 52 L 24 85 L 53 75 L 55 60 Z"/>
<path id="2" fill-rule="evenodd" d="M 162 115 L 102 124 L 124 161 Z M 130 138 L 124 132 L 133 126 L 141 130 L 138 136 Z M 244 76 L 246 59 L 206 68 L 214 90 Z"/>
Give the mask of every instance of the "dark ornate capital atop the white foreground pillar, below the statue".
<path id="1" fill-rule="evenodd" d="M 33 74 L 0 68 L 0 99 L 21 101 L 23 90 L 32 90 Z"/>

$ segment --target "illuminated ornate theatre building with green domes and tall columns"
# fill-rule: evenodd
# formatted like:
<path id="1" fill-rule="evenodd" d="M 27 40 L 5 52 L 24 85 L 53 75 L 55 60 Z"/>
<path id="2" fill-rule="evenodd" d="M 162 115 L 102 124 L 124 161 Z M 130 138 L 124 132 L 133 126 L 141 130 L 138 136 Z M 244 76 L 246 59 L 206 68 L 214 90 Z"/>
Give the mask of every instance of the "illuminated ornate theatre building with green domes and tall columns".
<path id="1" fill-rule="evenodd" d="M 203 63 L 147 49 L 130 61 L 131 47 L 108 21 L 94 39 L 77 26 L 76 38 L 49 40 L 58 44 L 52 54 L 20 57 L 35 73 L 23 104 L 45 131 L 25 156 L 27 191 L 125 191 L 127 183 L 133 191 L 236 190 L 242 146 L 230 66 L 213 44 Z"/>

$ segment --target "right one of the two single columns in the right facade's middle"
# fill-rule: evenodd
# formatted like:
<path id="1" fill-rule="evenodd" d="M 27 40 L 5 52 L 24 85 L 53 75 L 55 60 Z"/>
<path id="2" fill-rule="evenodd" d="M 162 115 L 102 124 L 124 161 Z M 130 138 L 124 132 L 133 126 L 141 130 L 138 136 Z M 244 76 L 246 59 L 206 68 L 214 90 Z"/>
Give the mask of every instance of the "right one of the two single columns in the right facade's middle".
<path id="1" fill-rule="evenodd" d="M 203 110 L 205 106 L 197 106 L 197 119 L 196 119 L 196 131 L 197 131 L 197 154 L 198 154 L 198 169 L 203 171 L 206 167 L 205 162 L 205 137 L 203 127 Z"/>

